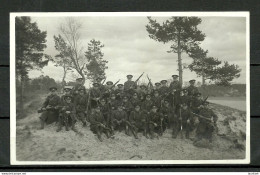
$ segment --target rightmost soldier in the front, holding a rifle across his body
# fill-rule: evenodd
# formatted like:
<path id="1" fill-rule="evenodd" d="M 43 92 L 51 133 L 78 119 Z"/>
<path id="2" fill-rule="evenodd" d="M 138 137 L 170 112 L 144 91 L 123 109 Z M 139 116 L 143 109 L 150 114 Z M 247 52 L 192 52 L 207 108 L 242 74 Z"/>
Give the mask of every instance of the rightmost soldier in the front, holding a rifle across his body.
<path id="1" fill-rule="evenodd" d="M 205 102 L 201 107 L 199 114 L 199 124 L 196 131 L 196 140 L 207 139 L 212 142 L 212 134 L 216 127 L 218 116 L 208 106 L 209 102 Z"/>

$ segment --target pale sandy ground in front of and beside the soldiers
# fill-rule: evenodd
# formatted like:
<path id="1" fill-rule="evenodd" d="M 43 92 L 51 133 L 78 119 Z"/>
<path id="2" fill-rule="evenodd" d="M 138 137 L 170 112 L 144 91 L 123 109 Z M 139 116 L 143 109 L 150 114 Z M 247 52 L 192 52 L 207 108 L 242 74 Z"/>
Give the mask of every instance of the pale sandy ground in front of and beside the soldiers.
<path id="1" fill-rule="evenodd" d="M 27 104 L 35 108 L 36 102 Z M 77 123 L 81 134 L 63 130 L 56 132 L 55 124 L 38 130 L 39 114 L 31 112 L 17 120 L 17 160 L 19 161 L 87 161 L 87 160 L 208 160 L 244 159 L 245 150 L 236 147 L 234 140 L 245 145 L 245 112 L 211 104 L 219 116 L 218 131 L 210 148 L 193 145 L 192 140 L 171 138 L 167 130 L 159 139 L 139 139 L 116 133 L 114 139 L 103 135 L 103 142 Z"/>

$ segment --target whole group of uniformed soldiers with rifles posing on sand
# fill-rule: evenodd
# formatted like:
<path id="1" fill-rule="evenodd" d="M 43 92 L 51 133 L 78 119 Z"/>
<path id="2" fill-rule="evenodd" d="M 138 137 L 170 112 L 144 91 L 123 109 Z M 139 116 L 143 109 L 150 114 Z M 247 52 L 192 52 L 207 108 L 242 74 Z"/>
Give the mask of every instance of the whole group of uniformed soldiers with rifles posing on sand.
<path id="1" fill-rule="evenodd" d="M 83 127 L 90 124 L 100 141 L 102 134 L 114 138 L 116 132 L 125 132 L 136 139 L 139 132 L 146 138 L 159 138 L 166 129 L 172 130 L 173 138 L 181 133 L 182 138 L 189 139 L 190 133 L 196 130 L 196 140 L 212 140 L 217 116 L 209 108 L 207 98 L 202 98 L 195 80 L 182 88 L 178 75 L 172 75 L 169 86 L 167 80 L 153 85 L 147 75 L 148 85 L 137 85 L 142 75 L 135 81 L 132 75 L 127 75 L 124 84 L 120 84 L 120 80 L 105 83 L 98 77 L 88 90 L 83 79 L 78 78 L 73 88 L 64 87 L 65 94 L 61 97 L 56 93 L 57 88 L 51 87 L 50 95 L 39 110 L 41 128 L 57 121 L 57 132 L 63 126 L 77 132 L 75 123 L 81 122 Z"/>

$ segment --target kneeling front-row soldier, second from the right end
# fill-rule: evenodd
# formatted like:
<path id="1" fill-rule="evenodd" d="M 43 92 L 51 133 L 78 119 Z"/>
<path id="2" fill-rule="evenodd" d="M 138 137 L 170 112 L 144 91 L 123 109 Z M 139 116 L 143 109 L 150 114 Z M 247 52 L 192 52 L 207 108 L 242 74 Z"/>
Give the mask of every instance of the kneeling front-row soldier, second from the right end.
<path id="1" fill-rule="evenodd" d="M 177 128 L 177 132 L 174 133 L 173 131 L 173 137 L 176 138 L 177 134 L 182 131 L 185 132 L 185 137 L 186 139 L 190 138 L 190 132 L 192 131 L 192 125 L 193 125 L 193 118 L 190 109 L 188 108 L 188 105 L 186 103 L 182 104 L 182 107 L 180 108 L 180 113 L 179 113 L 179 124 Z M 182 127 L 182 128 L 181 128 Z M 182 134 L 182 133 L 181 133 Z M 182 135 L 181 135 L 182 137 Z"/>

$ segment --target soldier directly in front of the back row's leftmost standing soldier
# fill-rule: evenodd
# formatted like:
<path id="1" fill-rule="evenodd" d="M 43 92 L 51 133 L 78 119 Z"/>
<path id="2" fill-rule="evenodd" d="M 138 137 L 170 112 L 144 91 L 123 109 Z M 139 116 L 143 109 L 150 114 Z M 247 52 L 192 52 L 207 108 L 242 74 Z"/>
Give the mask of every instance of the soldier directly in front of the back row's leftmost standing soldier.
<path id="1" fill-rule="evenodd" d="M 79 94 L 75 97 L 74 105 L 76 109 L 76 116 L 77 118 L 83 123 L 83 127 L 85 127 L 86 120 L 89 121 L 87 118 L 88 115 L 88 106 L 89 100 L 85 94 L 85 89 L 79 89 Z"/>

